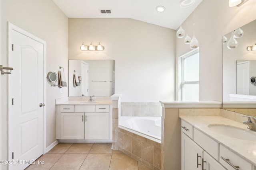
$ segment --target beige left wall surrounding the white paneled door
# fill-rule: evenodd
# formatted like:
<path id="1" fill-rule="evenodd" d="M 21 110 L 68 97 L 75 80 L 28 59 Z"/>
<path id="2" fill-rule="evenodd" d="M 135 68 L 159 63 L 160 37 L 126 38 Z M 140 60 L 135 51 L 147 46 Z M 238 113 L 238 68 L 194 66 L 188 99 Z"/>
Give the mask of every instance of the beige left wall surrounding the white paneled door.
<path id="1" fill-rule="evenodd" d="M 46 41 L 46 72 L 65 68 L 68 74 L 68 18 L 52 0 L 2 0 L 0 64 L 7 65 L 7 21 Z M 15 71 L 15 68 L 14 68 Z M 7 76 L 0 75 L 1 147 L 0 160 L 7 156 Z M 68 96 L 68 88 L 46 83 L 46 146 L 56 140 L 55 99 Z M 6 169 L 5 166 L 2 169 Z"/>

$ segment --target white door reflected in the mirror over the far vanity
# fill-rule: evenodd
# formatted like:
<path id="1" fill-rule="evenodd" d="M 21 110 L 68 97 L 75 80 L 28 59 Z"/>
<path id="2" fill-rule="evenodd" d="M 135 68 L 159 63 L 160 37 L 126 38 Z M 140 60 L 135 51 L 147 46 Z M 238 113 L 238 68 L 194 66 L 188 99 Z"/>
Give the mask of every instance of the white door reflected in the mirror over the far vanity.
<path id="1" fill-rule="evenodd" d="M 82 61 L 81 62 L 81 94 L 82 96 L 89 96 L 89 64 Z"/>

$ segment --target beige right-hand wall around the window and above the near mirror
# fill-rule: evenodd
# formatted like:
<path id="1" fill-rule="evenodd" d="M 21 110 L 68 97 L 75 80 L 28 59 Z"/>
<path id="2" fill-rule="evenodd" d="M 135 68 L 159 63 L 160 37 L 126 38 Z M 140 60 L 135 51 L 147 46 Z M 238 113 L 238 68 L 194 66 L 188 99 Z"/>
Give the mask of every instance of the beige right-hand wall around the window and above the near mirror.
<path id="1" fill-rule="evenodd" d="M 228 0 L 203 0 L 195 10 L 195 33 L 200 46 L 199 99 L 222 102 L 222 36 L 256 19 L 256 3 L 228 7 Z M 187 27 L 188 25 L 188 27 Z M 182 27 L 193 35 L 193 13 Z M 176 39 L 176 57 L 190 51 Z"/>

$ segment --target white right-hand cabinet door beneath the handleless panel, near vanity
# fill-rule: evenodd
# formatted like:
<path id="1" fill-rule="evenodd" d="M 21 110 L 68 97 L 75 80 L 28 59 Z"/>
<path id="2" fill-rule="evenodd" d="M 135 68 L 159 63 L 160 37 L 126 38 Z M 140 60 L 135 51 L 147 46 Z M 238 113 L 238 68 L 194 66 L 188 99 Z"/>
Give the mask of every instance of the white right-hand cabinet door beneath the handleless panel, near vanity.
<path id="1" fill-rule="evenodd" d="M 227 170 L 217 160 L 210 156 L 207 152 L 204 152 L 204 170 Z"/>

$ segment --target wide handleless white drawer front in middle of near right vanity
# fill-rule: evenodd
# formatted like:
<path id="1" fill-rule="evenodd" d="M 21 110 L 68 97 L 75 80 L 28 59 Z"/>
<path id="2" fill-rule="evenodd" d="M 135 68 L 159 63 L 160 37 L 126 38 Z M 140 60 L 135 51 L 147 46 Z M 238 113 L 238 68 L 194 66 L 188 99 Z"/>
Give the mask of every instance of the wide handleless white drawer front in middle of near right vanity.
<path id="1" fill-rule="evenodd" d="M 218 142 L 214 141 L 212 138 L 208 137 L 196 128 L 194 128 L 193 132 L 194 141 L 212 157 L 218 160 Z"/>

